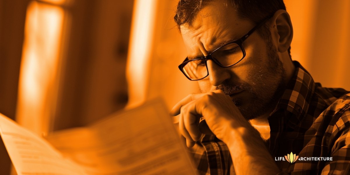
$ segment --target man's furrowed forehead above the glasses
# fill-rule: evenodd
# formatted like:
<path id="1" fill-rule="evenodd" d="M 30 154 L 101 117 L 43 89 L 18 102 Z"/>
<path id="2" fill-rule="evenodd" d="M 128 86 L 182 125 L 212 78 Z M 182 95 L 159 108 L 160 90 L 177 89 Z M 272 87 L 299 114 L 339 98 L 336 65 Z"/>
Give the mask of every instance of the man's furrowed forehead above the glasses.
<path id="1" fill-rule="evenodd" d="M 189 39 L 188 46 L 191 48 L 188 50 L 189 59 L 207 55 L 218 47 L 238 39 L 238 36 L 244 35 L 241 30 L 247 25 L 244 20 L 235 18 L 235 13 L 228 10 L 224 3 L 219 3 L 220 5 L 214 4 L 215 1 L 211 3 L 199 11 L 192 25 L 181 28 L 181 33 L 187 35 Z M 231 15 L 233 18 L 229 18 Z"/>

